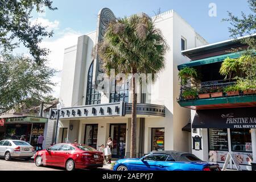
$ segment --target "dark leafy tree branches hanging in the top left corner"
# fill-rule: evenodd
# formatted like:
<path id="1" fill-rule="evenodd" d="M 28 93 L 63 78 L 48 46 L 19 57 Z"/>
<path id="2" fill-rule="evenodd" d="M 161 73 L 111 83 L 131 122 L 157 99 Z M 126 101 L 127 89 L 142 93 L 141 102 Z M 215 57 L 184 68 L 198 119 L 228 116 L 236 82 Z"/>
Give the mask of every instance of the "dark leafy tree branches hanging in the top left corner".
<path id="1" fill-rule="evenodd" d="M 12 51 L 23 43 L 34 60 L 43 63 L 49 50 L 40 48 L 39 43 L 43 37 L 51 37 L 53 32 L 48 32 L 41 24 L 31 24 L 32 10 L 36 8 L 42 13 L 43 7 L 57 9 L 52 7 L 50 0 L 0 0 L 0 49 L 3 52 Z"/>

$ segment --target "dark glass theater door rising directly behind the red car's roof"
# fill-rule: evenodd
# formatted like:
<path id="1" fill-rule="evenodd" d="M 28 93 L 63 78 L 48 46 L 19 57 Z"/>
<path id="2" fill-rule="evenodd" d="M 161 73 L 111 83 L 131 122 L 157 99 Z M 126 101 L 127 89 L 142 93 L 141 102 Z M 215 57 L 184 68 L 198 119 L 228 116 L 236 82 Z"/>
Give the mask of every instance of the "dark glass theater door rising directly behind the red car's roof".
<path id="1" fill-rule="evenodd" d="M 97 149 L 98 125 L 85 125 L 84 143 Z"/>

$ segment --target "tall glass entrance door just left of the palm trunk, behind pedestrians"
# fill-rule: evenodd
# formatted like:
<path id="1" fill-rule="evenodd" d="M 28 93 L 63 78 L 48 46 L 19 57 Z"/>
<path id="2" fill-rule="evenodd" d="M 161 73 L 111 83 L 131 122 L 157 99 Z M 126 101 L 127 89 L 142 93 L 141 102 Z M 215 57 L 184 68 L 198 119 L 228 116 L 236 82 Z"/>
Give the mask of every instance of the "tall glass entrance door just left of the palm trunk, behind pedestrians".
<path id="1" fill-rule="evenodd" d="M 109 137 L 113 139 L 112 157 L 123 159 L 126 148 L 126 124 L 110 124 Z"/>

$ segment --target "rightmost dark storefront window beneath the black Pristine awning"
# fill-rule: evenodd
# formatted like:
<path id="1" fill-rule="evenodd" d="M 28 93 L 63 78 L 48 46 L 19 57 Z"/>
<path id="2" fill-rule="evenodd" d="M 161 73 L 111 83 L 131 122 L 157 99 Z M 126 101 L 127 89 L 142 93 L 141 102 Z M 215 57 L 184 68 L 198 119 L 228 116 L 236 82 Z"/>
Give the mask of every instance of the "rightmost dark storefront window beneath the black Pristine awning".
<path id="1" fill-rule="evenodd" d="M 251 152 L 251 130 L 230 129 L 232 151 Z"/>

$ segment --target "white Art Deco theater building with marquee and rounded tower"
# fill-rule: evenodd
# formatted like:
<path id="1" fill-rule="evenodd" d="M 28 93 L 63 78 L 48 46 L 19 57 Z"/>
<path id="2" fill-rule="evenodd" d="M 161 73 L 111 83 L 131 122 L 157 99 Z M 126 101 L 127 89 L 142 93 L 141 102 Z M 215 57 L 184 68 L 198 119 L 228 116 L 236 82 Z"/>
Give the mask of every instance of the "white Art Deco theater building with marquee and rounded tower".
<path id="1" fill-rule="evenodd" d="M 78 140 L 98 148 L 113 138 L 114 158 L 130 156 L 131 94 L 126 84 L 118 93 L 104 93 L 94 88 L 101 73 L 100 60 L 91 56 L 92 49 L 102 39 L 104 28 L 115 16 L 109 9 L 98 14 L 97 30 L 80 36 L 77 45 L 64 52 L 61 77 L 60 122 L 57 142 Z M 203 46 L 207 42 L 181 18 L 170 10 L 153 17 L 170 49 L 166 53 L 166 68 L 158 79 L 142 93 L 138 87 L 137 154 L 152 150 L 189 151 L 191 140 L 187 131 L 190 111 L 176 102 L 179 96 L 177 65 L 189 59 L 181 50 Z M 56 118 L 57 110 L 51 111 Z"/>

